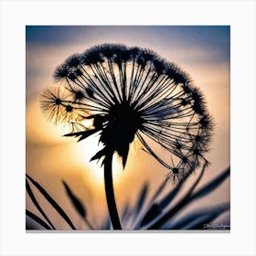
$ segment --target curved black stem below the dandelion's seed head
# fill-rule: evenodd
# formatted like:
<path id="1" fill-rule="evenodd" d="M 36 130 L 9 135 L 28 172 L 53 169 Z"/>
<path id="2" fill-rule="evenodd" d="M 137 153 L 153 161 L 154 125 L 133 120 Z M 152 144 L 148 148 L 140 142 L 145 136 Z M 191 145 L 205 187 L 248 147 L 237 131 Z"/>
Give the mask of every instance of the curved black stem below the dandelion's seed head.
<path id="1" fill-rule="evenodd" d="M 121 223 L 118 217 L 118 212 L 115 204 L 113 187 L 112 187 L 112 153 L 106 155 L 104 160 L 104 182 L 106 198 L 109 208 L 110 217 L 112 220 L 113 229 L 122 229 Z"/>

